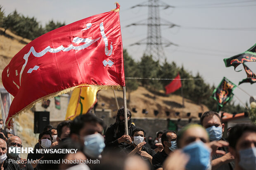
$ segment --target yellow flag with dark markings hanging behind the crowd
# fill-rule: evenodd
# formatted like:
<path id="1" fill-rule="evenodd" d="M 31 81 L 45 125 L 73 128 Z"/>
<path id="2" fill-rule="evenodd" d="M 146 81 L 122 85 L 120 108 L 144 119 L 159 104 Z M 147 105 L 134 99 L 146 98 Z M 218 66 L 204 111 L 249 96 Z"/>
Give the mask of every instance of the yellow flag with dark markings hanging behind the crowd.
<path id="1" fill-rule="evenodd" d="M 66 110 L 66 120 L 73 120 L 79 115 L 86 114 L 97 102 L 98 90 L 91 87 L 78 87 L 73 90 Z"/>

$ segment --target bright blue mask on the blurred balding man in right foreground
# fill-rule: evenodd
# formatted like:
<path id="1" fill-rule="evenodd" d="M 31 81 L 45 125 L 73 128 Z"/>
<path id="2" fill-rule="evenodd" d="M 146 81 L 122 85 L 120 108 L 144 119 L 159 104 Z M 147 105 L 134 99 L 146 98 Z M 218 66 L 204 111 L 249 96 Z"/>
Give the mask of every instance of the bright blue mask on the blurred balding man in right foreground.
<path id="1" fill-rule="evenodd" d="M 211 169 L 211 152 L 201 141 L 192 142 L 183 148 L 183 152 L 190 156 L 186 170 Z"/>

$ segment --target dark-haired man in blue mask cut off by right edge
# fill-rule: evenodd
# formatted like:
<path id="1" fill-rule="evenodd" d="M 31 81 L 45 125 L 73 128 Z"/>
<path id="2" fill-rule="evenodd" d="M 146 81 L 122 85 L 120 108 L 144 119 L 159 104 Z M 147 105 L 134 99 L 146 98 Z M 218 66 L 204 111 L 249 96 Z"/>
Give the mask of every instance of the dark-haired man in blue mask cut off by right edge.
<path id="1" fill-rule="evenodd" d="M 229 151 L 235 157 L 234 170 L 256 170 L 256 126 L 236 124 L 227 140 Z"/>

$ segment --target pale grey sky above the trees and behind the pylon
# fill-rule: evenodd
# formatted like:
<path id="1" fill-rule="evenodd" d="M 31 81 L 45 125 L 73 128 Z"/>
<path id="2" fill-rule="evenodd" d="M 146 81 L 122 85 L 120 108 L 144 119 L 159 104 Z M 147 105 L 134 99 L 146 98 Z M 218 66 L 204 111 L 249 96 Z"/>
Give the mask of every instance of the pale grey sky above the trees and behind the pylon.
<path id="1" fill-rule="evenodd" d="M 37 18 L 43 26 L 50 20 L 66 24 L 115 9 L 116 0 L 0 0 L 5 14 L 15 9 L 24 16 Z M 145 45 L 130 46 L 147 37 L 147 26 L 130 26 L 139 21 L 147 22 L 147 7 L 131 7 L 147 0 L 119 0 L 120 23 L 123 48 L 139 61 Z M 225 67 L 224 58 L 229 58 L 249 49 L 256 43 L 256 0 L 162 0 L 175 8 L 159 8 L 162 20 L 181 27 L 161 27 L 164 39 L 179 46 L 164 48 L 168 62 L 182 65 L 195 76 L 198 72 L 206 83 L 217 86 L 225 76 L 237 84 L 247 75 L 242 64 L 235 72 L 233 67 Z M 204 29 L 202 29 L 204 28 Z M 213 28 L 213 29 L 208 29 Z M 246 29 L 245 29 L 246 28 Z M 164 59 L 162 59 L 164 60 Z M 255 62 L 247 66 L 256 71 Z M 168 77 L 166 77 L 168 78 Z M 171 78 L 171 77 L 169 77 Z M 239 85 L 251 96 L 256 96 L 256 83 Z M 234 90 L 243 103 L 249 102 L 249 95 L 236 88 Z M 236 103 L 240 103 L 235 97 Z M 241 104 L 241 103 L 240 103 Z"/>

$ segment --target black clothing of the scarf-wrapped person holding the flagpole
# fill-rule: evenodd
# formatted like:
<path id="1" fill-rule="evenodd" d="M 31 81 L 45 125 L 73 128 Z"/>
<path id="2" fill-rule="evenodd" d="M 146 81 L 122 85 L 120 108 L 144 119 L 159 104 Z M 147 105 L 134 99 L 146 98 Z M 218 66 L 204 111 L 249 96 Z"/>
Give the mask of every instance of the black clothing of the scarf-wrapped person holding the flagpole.
<path id="1" fill-rule="evenodd" d="M 126 142 L 118 143 L 118 141 L 117 141 L 117 139 L 121 138 L 121 136 L 124 135 L 124 128 L 119 128 L 119 131 L 116 134 L 116 137 L 114 137 L 116 126 L 117 126 L 116 123 L 110 125 L 109 128 L 107 129 L 106 133 L 105 133 L 106 148 L 122 149 L 122 148 L 128 147 L 130 144 L 128 144 Z M 133 124 L 128 126 L 128 134 L 130 136 L 131 136 L 131 133 L 132 133 L 133 129 L 135 129 L 135 128 L 136 127 Z"/>

